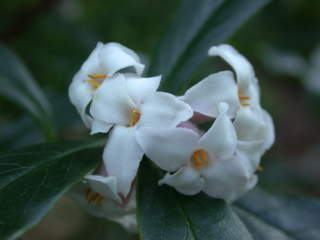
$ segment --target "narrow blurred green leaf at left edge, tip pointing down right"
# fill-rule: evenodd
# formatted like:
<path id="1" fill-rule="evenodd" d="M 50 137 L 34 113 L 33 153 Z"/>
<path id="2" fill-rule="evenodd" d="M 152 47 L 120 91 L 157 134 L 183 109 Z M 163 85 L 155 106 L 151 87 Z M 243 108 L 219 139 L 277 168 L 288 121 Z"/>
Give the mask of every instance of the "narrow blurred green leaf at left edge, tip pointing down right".
<path id="1" fill-rule="evenodd" d="M 48 140 L 54 139 L 51 106 L 21 60 L 0 45 L 0 95 L 26 110 L 41 126 Z"/>

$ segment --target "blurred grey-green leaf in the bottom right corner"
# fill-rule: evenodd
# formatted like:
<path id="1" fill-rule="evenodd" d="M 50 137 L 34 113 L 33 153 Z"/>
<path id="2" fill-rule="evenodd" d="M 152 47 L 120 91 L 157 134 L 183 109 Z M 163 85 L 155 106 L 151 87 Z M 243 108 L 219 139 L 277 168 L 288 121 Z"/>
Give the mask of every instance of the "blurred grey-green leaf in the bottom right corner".
<path id="1" fill-rule="evenodd" d="M 320 200 L 297 195 L 273 195 L 255 189 L 235 204 L 239 216 L 257 240 L 318 240 Z"/>

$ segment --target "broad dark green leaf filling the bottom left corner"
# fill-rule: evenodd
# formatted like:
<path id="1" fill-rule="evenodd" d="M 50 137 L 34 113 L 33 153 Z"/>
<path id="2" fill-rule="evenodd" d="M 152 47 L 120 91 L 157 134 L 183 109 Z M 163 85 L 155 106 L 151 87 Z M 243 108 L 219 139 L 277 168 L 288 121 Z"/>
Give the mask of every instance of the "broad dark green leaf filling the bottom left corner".
<path id="1" fill-rule="evenodd" d="M 39 144 L 0 153 L 0 239 L 38 223 L 101 161 L 101 140 Z"/>

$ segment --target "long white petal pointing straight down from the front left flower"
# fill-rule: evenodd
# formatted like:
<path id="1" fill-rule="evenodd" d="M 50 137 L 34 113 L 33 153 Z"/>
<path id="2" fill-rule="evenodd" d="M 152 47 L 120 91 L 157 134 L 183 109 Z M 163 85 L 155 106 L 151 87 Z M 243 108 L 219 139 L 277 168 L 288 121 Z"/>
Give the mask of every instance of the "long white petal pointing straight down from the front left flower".
<path id="1" fill-rule="evenodd" d="M 136 177 L 143 156 L 134 132 L 136 128 L 116 126 L 113 128 L 103 152 L 103 161 L 109 176 L 118 180 L 118 191 L 126 196 Z"/>

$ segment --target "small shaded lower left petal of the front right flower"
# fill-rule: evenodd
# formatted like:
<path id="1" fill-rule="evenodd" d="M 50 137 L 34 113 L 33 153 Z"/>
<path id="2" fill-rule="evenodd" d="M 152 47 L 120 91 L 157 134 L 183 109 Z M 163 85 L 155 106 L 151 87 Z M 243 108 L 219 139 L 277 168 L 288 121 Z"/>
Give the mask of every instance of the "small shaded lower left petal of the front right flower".
<path id="1" fill-rule="evenodd" d="M 159 184 L 167 184 L 174 187 L 178 192 L 186 195 L 194 195 L 202 190 L 204 180 L 200 174 L 191 167 L 184 167 L 172 175 L 167 173 L 159 181 Z"/>

